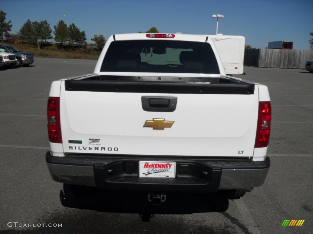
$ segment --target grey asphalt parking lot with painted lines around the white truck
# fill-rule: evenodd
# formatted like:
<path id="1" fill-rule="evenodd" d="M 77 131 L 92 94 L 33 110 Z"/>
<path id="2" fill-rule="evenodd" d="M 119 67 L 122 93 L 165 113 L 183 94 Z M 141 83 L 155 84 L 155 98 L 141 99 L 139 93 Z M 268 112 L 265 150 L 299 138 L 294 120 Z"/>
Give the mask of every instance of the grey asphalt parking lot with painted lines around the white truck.
<path id="1" fill-rule="evenodd" d="M 312 233 L 313 74 L 300 69 L 245 67 L 238 76 L 268 85 L 273 111 L 269 174 L 243 198 L 170 194 L 149 207 L 143 194 L 101 192 L 68 205 L 80 209 L 62 206 L 62 184 L 45 162 L 50 84 L 92 73 L 95 63 L 35 58 L 0 70 L 0 233 Z M 142 222 L 142 212 L 154 217 Z M 282 227 L 286 219 L 305 222 Z"/>

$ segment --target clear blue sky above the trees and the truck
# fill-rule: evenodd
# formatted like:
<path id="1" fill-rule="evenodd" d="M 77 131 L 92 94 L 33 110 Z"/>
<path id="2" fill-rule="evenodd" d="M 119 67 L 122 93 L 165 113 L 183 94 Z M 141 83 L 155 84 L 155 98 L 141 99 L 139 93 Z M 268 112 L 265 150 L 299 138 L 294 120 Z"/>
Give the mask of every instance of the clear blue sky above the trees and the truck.
<path id="1" fill-rule="evenodd" d="M 96 34 L 160 32 L 239 35 L 247 45 L 265 48 L 270 41 L 293 41 L 294 49 L 310 49 L 312 0 L 0 0 L 0 10 L 12 20 L 11 33 L 30 19 L 53 26 L 63 20 L 85 31 L 87 42 Z M 54 36 L 54 34 L 53 34 Z"/>

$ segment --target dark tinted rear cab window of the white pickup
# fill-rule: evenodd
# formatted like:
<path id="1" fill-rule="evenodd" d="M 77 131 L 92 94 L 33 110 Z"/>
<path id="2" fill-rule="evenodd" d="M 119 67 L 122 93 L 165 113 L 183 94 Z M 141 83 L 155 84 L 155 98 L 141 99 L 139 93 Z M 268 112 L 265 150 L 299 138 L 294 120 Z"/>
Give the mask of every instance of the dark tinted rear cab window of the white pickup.
<path id="1" fill-rule="evenodd" d="M 210 44 L 169 40 L 113 41 L 100 71 L 220 74 Z"/>

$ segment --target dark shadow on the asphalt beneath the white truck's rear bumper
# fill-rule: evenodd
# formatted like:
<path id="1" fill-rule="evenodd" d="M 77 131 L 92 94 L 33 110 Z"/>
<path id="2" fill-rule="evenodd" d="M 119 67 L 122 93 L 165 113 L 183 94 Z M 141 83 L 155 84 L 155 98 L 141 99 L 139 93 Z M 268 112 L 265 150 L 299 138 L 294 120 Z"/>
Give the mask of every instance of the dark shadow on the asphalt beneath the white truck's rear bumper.
<path id="1" fill-rule="evenodd" d="M 155 214 L 192 214 L 223 212 L 228 209 L 228 199 L 219 193 L 167 193 L 166 201 L 153 205 L 148 192 L 107 191 L 85 188 L 80 193 L 64 185 L 60 190 L 64 207 L 95 210 L 98 212 L 138 213 L 142 221 L 149 221 Z"/>

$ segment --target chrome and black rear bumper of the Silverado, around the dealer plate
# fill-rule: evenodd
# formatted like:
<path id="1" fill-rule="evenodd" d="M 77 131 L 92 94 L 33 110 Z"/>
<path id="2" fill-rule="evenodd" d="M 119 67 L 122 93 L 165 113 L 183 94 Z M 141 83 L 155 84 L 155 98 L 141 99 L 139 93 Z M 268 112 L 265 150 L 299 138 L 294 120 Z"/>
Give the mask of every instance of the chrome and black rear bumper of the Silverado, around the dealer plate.
<path id="1" fill-rule="evenodd" d="M 160 160 L 151 158 L 149 160 Z M 126 190 L 215 192 L 222 189 L 245 189 L 264 183 L 270 160 L 253 162 L 249 159 L 175 159 L 162 157 L 162 161 L 176 161 L 176 178 L 139 178 L 138 162 L 147 156 L 134 155 L 70 155 L 65 157 L 46 154 L 49 172 L 55 181 Z"/>

